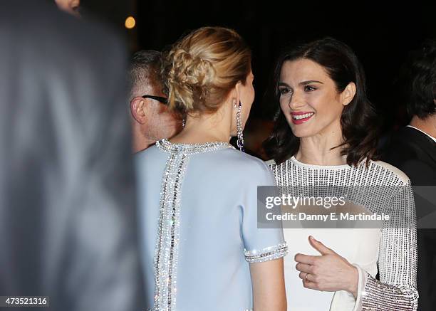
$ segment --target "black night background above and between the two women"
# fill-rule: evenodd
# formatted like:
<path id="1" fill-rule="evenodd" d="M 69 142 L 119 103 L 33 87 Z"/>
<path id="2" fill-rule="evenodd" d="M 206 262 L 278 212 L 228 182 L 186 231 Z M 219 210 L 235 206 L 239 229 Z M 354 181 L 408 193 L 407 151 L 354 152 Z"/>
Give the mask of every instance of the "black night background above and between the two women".
<path id="1" fill-rule="evenodd" d="M 254 55 L 256 99 L 246 132 L 266 136 L 277 109 L 266 95 L 274 60 L 286 45 L 323 36 L 347 43 L 363 63 L 368 96 L 383 120 L 383 133 L 405 125 L 408 118 L 395 78 L 408 51 L 425 38 L 436 38 L 436 1 L 407 2 L 82 0 L 82 5 L 118 28 L 132 52 L 162 50 L 201 26 L 234 28 Z M 137 22 L 131 30 L 124 28 L 129 15 Z"/>

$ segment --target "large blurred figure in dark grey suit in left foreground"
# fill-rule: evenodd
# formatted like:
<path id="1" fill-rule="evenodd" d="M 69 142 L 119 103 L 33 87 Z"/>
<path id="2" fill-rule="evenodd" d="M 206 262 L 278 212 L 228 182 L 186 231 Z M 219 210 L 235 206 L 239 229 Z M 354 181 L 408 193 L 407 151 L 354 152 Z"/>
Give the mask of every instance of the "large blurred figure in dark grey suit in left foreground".
<path id="1" fill-rule="evenodd" d="M 142 310 L 125 48 L 51 3 L 0 6 L 0 295 Z"/>

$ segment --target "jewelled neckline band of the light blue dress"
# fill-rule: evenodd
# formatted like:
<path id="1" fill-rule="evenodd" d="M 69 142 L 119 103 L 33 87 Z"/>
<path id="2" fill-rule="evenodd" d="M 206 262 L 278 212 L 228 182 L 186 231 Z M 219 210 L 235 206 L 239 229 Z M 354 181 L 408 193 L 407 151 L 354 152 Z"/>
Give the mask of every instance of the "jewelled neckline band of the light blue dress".
<path id="1" fill-rule="evenodd" d="M 156 146 L 170 153 L 178 153 L 182 152 L 185 154 L 198 154 L 203 152 L 213 152 L 221 149 L 232 148 L 232 144 L 228 142 L 204 142 L 197 144 L 176 144 L 174 142 L 170 142 L 168 139 L 161 139 L 156 142 Z"/>

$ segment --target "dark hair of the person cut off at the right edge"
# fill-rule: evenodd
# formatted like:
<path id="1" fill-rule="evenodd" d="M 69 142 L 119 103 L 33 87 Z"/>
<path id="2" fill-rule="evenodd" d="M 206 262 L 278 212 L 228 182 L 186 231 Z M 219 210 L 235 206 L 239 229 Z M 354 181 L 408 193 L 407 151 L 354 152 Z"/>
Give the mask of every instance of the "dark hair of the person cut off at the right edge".
<path id="1" fill-rule="evenodd" d="M 400 90 L 410 117 L 420 119 L 436 112 L 436 41 L 428 39 L 420 49 L 410 52 L 400 71 Z"/>

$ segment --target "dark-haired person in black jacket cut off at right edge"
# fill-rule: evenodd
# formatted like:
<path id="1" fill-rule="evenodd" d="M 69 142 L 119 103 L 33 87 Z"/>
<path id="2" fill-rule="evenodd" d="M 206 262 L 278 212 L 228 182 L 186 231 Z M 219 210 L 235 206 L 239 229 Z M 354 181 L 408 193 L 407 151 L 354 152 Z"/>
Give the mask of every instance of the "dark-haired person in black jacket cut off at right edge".
<path id="1" fill-rule="evenodd" d="M 412 51 L 400 74 L 400 85 L 409 125 L 396 132 L 385 148 L 383 158 L 407 174 L 412 186 L 436 185 L 436 41 L 426 41 Z M 436 305 L 435 208 L 416 196 L 418 310 L 430 311 Z M 434 204 L 434 202 L 433 202 Z M 433 220 L 429 217 L 433 216 Z M 420 228 L 421 227 L 421 228 Z"/>

